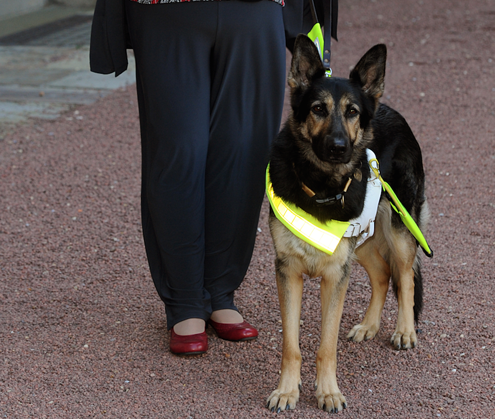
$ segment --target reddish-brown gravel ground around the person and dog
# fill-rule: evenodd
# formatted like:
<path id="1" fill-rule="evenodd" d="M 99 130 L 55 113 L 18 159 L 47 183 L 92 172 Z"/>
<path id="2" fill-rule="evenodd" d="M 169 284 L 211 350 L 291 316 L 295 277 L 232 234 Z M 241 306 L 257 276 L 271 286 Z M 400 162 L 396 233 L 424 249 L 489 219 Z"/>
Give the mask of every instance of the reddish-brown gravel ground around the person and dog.
<path id="1" fill-rule="evenodd" d="M 420 344 L 396 351 L 391 292 L 382 327 L 356 344 L 368 279 L 356 266 L 338 343 L 342 417 L 495 416 L 493 234 L 495 6 L 342 1 L 334 74 L 388 46 L 383 101 L 421 143 L 434 249 L 424 258 Z M 0 141 L 0 413 L 6 418 L 264 418 L 279 378 L 280 315 L 265 203 L 253 262 L 236 294 L 260 331 L 233 343 L 208 331 L 198 357 L 168 351 L 139 214 L 134 87 Z M 288 418 L 327 417 L 312 391 L 319 284 L 306 281 L 303 392 Z"/>

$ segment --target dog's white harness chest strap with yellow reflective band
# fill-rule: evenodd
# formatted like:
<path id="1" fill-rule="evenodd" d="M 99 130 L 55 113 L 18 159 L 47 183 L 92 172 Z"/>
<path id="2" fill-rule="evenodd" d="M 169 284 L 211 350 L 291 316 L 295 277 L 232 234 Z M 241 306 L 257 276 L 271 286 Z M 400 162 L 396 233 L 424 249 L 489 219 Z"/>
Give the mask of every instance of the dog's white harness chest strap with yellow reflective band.
<path id="1" fill-rule="evenodd" d="M 366 153 L 368 161 L 376 158 L 370 149 Z M 373 235 L 381 186 L 380 179 L 371 171 L 361 215 L 348 222 L 330 220 L 322 223 L 301 208 L 276 196 L 270 181 L 269 166 L 266 171 L 267 196 L 277 219 L 293 234 L 329 255 L 333 254 L 342 237 L 359 237 L 356 246 L 360 246 Z"/>

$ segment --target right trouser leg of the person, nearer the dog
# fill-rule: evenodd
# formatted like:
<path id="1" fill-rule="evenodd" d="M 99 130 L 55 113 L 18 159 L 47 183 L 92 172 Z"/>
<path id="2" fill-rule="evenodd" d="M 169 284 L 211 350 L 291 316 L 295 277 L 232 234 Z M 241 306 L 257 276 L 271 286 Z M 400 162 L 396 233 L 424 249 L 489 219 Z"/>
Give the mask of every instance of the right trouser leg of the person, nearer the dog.
<path id="1" fill-rule="evenodd" d="M 205 287 L 212 319 L 221 322 L 215 315 L 237 310 L 233 293 L 254 248 L 269 145 L 282 113 L 285 39 L 280 5 L 218 3 L 205 185 Z"/>

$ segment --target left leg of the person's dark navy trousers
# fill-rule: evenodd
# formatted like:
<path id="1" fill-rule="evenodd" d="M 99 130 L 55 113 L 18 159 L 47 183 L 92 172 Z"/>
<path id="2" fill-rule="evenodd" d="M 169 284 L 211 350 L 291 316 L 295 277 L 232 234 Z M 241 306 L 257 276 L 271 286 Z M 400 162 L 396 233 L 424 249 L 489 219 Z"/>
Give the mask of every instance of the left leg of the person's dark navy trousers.
<path id="1" fill-rule="evenodd" d="M 186 319 L 204 322 L 212 311 L 204 220 L 217 13 L 210 2 L 126 5 L 137 67 L 143 236 L 170 329 Z"/>

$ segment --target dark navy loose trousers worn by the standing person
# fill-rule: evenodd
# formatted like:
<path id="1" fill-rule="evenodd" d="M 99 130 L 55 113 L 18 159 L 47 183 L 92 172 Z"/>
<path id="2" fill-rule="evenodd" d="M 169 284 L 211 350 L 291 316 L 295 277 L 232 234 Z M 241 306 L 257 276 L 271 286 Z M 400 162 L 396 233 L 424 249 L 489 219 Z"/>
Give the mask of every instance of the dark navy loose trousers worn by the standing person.
<path id="1" fill-rule="evenodd" d="M 285 86 L 272 1 L 126 2 L 136 58 L 142 227 L 168 328 L 234 309 L 253 253 Z"/>

